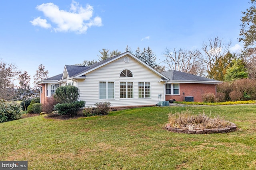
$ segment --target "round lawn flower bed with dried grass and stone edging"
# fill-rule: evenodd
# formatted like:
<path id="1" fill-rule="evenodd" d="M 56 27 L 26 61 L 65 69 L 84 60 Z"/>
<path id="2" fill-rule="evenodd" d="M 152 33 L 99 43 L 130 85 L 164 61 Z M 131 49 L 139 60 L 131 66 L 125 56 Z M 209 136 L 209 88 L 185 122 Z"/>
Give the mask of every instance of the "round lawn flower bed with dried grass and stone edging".
<path id="1" fill-rule="evenodd" d="M 169 114 L 165 129 L 176 133 L 210 134 L 227 133 L 236 130 L 236 125 L 219 116 L 212 118 L 204 113 L 192 115 L 189 110 Z"/>

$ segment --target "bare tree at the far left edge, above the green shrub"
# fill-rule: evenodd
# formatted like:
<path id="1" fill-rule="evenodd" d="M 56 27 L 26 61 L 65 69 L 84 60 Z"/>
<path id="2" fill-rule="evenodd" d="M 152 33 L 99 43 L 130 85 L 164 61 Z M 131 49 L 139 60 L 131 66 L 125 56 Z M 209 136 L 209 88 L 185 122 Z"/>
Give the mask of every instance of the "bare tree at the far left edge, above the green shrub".
<path id="1" fill-rule="evenodd" d="M 0 59 L 0 99 L 12 99 L 16 92 L 14 90 L 14 80 L 18 78 L 20 70 L 14 64 L 6 64 Z"/>

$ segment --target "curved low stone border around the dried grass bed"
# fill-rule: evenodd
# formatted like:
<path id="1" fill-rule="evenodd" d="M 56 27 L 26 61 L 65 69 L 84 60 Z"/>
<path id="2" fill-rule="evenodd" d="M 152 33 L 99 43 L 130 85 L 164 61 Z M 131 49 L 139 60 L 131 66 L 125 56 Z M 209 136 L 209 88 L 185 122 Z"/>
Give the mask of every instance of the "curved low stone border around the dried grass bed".
<path id="1" fill-rule="evenodd" d="M 188 130 L 188 129 L 178 129 L 170 127 L 170 124 L 167 124 L 165 129 L 171 132 L 176 133 L 191 133 L 191 134 L 210 134 L 210 133 L 228 133 L 236 130 L 236 124 L 229 122 L 231 125 L 224 128 L 212 128 L 212 129 L 200 129 L 200 130 Z"/>

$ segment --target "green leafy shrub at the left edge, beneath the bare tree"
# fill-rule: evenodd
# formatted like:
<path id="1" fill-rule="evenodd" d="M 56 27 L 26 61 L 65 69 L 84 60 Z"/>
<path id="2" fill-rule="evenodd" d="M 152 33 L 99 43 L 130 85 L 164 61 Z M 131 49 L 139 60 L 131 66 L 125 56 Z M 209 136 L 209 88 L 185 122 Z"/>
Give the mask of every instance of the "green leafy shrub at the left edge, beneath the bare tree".
<path id="1" fill-rule="evenodd" d="M 20 119 L 21 116 L 19 104 L 0 100 L 0 122 Z"/>

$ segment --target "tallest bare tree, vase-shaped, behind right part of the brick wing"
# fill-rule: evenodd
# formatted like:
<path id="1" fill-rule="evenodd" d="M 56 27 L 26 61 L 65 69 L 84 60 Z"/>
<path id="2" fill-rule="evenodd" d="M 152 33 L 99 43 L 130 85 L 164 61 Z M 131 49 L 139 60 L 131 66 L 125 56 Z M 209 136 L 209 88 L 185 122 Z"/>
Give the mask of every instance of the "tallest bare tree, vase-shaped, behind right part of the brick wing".
<path id="1" fill-rule="evenodd" d="M 208 42 L 203 43 L 202 55 L 199 56 L 199 59 L 206 65 L 209 78 L 212 78 L 210 72 L 214 66 L 214 62 L 221 56 L 226 55 L 230 44 L 231 41 L 226 43 L 218 36 L 208 39 Z"/>

